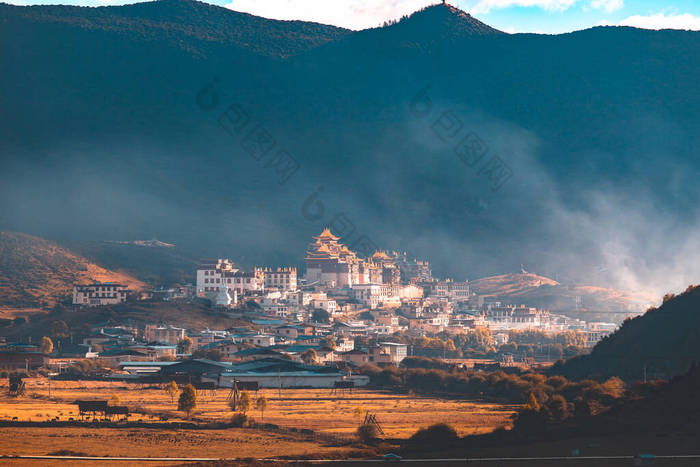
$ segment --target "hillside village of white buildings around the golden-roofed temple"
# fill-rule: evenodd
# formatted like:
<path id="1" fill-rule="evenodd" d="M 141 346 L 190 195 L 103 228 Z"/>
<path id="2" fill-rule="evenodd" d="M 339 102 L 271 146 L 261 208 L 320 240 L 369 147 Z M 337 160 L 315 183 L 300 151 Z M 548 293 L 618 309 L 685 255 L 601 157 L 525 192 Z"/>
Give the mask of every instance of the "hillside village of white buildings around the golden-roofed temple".
<path id="1" fill-rule="evenodd" d="M 273 387 L 364 385 L 368 378 L 353 376 L 353 369 L 366 364 L 398 366 L 409 356 L 430 356 L 467 367 L 522 368 L 585 352 L 616 327 L 485 300 L 468 281 L 435 278 L 428 261 L 406 253 L 361 258 L 330 229 L 313 238 L 305 260 L 303 276 L 296 267 L 242 270 L 230 259 L 215 259 L 200 261 L 194 285 L 137 292 L 125 284 L 75 284 L 74 310 L 199 301 L 244 325 L 194 330 L 177 322 L 102 323 L 71 344 L 52 343 L 49 351 L 5 342 L 0 367 L 60 371 L 86 359 L 122 377 L 187 368 L 224 386 L 234 379 Z"/>

